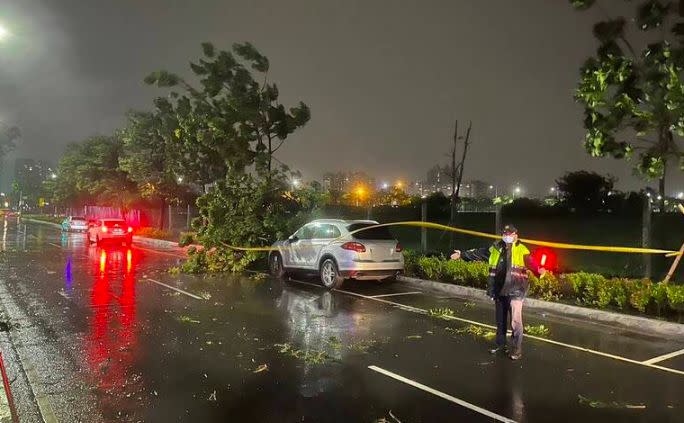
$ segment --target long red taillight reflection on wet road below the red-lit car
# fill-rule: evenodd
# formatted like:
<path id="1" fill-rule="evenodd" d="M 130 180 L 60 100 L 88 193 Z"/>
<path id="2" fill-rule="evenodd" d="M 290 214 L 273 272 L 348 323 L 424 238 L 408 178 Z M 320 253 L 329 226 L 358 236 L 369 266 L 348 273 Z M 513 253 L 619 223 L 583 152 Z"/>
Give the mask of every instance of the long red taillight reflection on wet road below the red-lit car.
<path id="1" fill-rule="evenodd" d="M 107 394 L 101 397 L 102 409 L 111 413 L 122 406 L 133 413 L 135 397 L 126 394 L 142 383 L 133 374 L 138 347 L 135 258 L 131 249 L 101 250 L 90 294 L 86 360 L 93 385 Z"/>

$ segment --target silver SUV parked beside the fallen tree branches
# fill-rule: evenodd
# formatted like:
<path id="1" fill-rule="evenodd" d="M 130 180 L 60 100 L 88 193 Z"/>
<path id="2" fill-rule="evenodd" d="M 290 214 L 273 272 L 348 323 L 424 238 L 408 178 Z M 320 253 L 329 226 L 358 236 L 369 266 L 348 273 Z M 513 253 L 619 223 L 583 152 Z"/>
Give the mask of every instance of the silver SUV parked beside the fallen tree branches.
<path id="1" fill-rule="evenodd" d="M 402 247 L 387 227 L 372 220 L 314 220 L 273 244 L 269 268 L 276 277 L 294 270 L 318 273 L 326 288 L 345 279 L 383 280 L 404 270 Z M 372 227 L 372 228 L 370 228 Z M 365 229 L 353 233 L 359 229 Z"/>

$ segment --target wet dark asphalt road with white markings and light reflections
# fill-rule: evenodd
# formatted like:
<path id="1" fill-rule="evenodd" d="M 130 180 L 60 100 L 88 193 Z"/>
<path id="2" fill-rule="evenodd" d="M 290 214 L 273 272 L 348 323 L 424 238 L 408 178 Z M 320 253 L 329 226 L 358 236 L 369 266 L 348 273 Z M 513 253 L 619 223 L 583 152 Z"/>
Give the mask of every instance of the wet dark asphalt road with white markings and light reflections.
<path id="1" fill-rule="evenodd" d="M 681 339 L 526 313 L 553 340 L 618 358 L 527 339 L 512 362 L 420 313 L 491 323 L 490 304 L 398 283 L 172 275 L 173 251 L 3 223 L 0 347 L 22 421 L 684 421 L 684 374 L 619 359 Z M 684 371 L 682 358 L 658 364 Z"/>

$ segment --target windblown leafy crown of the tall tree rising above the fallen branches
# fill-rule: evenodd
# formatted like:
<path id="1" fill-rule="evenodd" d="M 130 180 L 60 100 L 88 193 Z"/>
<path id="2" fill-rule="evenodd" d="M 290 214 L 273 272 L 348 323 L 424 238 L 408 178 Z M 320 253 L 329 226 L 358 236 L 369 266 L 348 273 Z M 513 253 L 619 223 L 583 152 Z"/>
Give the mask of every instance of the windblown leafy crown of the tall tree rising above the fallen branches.
<path id="1" fill-rule="evenodd" d="M 163 119 L 176 122 L 166 136 L 178 146 L 181 172 L 206 184 L 256 165 L 270 178 L 273 154 L 309 121 L 309 108 L 299 103 L 288 110 L 278 102 L 278 87 L 268 82 L 268 59 L 252 44 L 217 51 L 204 43 L 202 50 L 204 57 L 190 64 L 199 88 L 167 71 L 145 78 L 173 89 L 155 105 Z"/>

